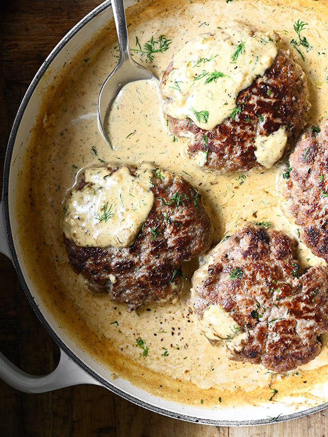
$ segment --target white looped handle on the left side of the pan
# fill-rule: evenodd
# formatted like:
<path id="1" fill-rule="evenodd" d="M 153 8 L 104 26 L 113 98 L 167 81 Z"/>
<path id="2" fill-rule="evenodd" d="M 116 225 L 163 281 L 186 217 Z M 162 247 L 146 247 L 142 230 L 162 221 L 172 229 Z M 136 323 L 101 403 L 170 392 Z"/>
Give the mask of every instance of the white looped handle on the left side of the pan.
<path id="1" fill-rule="evenodd" d="M 5 227 L 3 202 L 0 203 L 0 253 L 12 260 Z M 26 393 L 43 393 L 77 384 L 101 385 L 61 349 L 58 366 L 45 376 L 34 376 L 23 372 L 0 352 L 0 378 L 11 387 Z"/>

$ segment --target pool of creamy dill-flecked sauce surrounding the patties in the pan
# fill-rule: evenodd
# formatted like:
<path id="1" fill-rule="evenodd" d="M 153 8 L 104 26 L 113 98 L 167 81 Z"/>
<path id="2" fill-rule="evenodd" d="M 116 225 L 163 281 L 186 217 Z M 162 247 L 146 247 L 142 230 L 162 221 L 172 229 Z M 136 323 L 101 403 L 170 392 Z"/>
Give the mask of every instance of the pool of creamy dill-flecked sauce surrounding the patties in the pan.
<path id="1" fill-rule="evenodd" d="M 319 2 L 308 4 L 317 7 Z M 166 35 L 172 39 L 172 43 L 168 50 L 155 53 L 152 62 L 138 51 L 134 52 L 134 58 L 160 77 L 172 55 L 187 41 L 204 31 L 217 32 L 218 26 L 229 26 L 232 18 L 254 26 L 262 34 L 277 31 L 281 35 L 281 44 L 290 48 L 293 47 L 291 39 L 297 39 L 293 29 L 294 22 L 301 19 L 308 23 L 302 31 L 302 36 L 306 36 L 311 48 L 306 50 L 303 46 L 297 46 L 304 56 L 304 61 L 297 51 L 295 56 L 305 70 L 309 82 L 312 107 L 308 113 L 308 122 L 310 125 L 317 125 L 318 120 L 326 116 L 327 110 L 328 33 L 325 15 L 318 14 L 316 9 L 296 2 L 284 5 L 264 0 L 234 0 L 229 3 L 223 0 L 194 0 L 192 3 L 189 0 L 175 3 L 159 2 L 149 11 L 142 11 L 142 19 L 140 16 L 129 19 L 130 41 L 138 38 L 141 47 L 144 47 L 153 35 L 155 39 L 160 35 Z M 156 167 L 181 174 L 201 191 L 204 199 L 211 205 L 215 224 L 214 244 L 220 241 L 224 234 L 233 232 L 236 224 L 238 226 L 245 220 L 270 220 L 272 228 L 282 230 L 298 239 L 296 227 L 283 217 L 279 206 L 282 200 L 276 189 L 276 179 L 281 173 L 280 164 L 274 165 L 268 171 L 252 170 L 231 176 L 217 176 L 202 171 L 191 160 L 181 156 L 181 149 L 188 140 L 174 138 L 163 127 L 157 112 L 158 100 L 152 87 L 144 94 L 130 92 L 128 100 L 132 100 L 134 95 L 134 102 L 125 100 L 124 94 L 119 96 L 118 106 L 128 105 L 125 110 L 129 120 L 124 122 L 124 111 L 117 112 L 117 117 L 120 117 L 118 127 L 112 128 L 115 149 L 109 147 L 98 130 L 96 103 L 101 84 L 116 65 L 116 46 L 117 42 L 113 38 L 106 50 L 101 47 L 94 53 L 89 51 L 88 62 L 84 60 L 86 56 L 82 55 L 80 67 L 73 76 L 73 87 L 63 90 L 65 98 L 60 100 L 59 107 L 43 114 L 43 126 L 39 129 L 44 140 L 42 144 L 39 144 L 39 140 L 33 144 L 37 151 L 33 165 L 38 167 L 38 172 L 32 169 L 30 179 L 22 172 L 22 184 L 18 184 L 20 192 L 17 194 L 17 198 L 21 199 L 18 202 L 17 214 L 20 238 L 28 243 L 25 244 L 25 247 L 29 247 L 26 258 L 31 264 L 31 272 L 35 272 L 38 277 L 45 275 L 44 271 L 49 265 L 43 267 L 39 251 L 49 247 L 49 263 L 57 275 L 56 289 L 60 289 L 61 296 L 66 296 L 72 302 L 76 311 L 76 315 L 61 315 L 63 323 L 70 326 L 73 332 L 74 329 L 77 330 L 74 323 L 83 320 L 90 331 L 95 333 L 99 342 L 98 345 L 96 342 L 92 345 L 85 342 L 83 347 L 92 353 L 96 351 L 99 361 L 113 369 L 113 373 L 129 379 L 128 363 L 136 362 L 142 369 L 140 374 L 147 375 L 147 369 L 157 372 L 157 387 L 161 387 L 162 378 L 178 381 L 181 384 L 181 391 L 180 388 L 178 390 L 179 399 L 183 402 L 186 402 L 189 391 L 184 390 L 184 384 L 188 383 L 193 383 L 201 389 L 213 387 L 232 392 L 241 389 L 244 393 L 252 390 L 258 393 L 260 387 L 264 387 L 267 390 L 263 394 L 264 399 L 269 399 L 271 391 L 268 386 L 272 379 L 277 378 L 275 374 L 262 366 L 229 361 L 224 341 L 213 347 L 199 334 L 195 316 L 189 311 L 189 280 L 185 282 L 185 289 L 175 305 L 150 306 L 128 314 L 126 305 L 114 304 L 106 295 L 93 295 L 84 278 L 81 275 L 77 276 L 68 265 L 60 231 L 67 192 L 74 185 L 81 169 L 90 165 L 101 165 L 103 162 L 137 165 L 147 161 Z M 138 49 L 138 46 L 133 48 Z M 265 51 L 265 47 L 263 50 Z M 137 84 L 134 84 L 135 86 Z M 196 107 L 196 103 L 194 105 Z M 232 108 L 230 105 L 228 107 Z M 136 112 L 135 109 L 137 113 L 133 113 Z M 112 121 L 115 123 L 115 120 Z M 27 180 L 31 183 L 31 192 Z M 29 200 L 26 200 L 29 196 L 34 202 L 32 210 Z M 101 214 L 101 209 L 97 211 Z M 31 230 L 30 224 L 26 225 L 34 223 L 33 219 L 38 223 L 37 230 Z M 37 247 L 31 235 L 37 240 Z M 39 235 L 43 236 L 42 240 Z M 323 263 L 323 260 L 315 257 L 302 243 L 298 245 L 298 254 L 302 267 Z M 198 263 L 194 260 L 183 266 L 183 272 L 191 278 L 197 267 Z M 55 290 L 51 293 L 55 293 Z M 51 293 L 47 295 L 44 292 L 44 296 L 55 311 L 58 304 L 51 301 Z M 137 345 L 136 340 L 139 338 L 144 340 L 144 348 Z M 124 358 L 116 359 L 121 355 Z M 311 366 L 327 364 L 326 355 L 327 349 L 324 347 Z M 120 365 L 115 364 L 118 361 Z M 299 370 L 297 375 L 291 372 L 289 380 L 293 379 L 295 387 L 299 382 L 301 389 L 304 389 L 304 384 L 301 384 L 303 378 L 303 371 Z M 306 380 L 311 381 L 309 373 L 306 373 Z M 145 378 L 141 377 L 139 380 L 135 377 L 133 382 L 142 386 L 147 384 Z M 170 390 L 170 387 L 167 391 L 165 388 L 158 388 L 158 393 L 161 396 L 173 396 Z M 226 396 L 229 398 L 229 394 Z M 191 403 L 199 404 L 199 399 L 188 399 Z"/>

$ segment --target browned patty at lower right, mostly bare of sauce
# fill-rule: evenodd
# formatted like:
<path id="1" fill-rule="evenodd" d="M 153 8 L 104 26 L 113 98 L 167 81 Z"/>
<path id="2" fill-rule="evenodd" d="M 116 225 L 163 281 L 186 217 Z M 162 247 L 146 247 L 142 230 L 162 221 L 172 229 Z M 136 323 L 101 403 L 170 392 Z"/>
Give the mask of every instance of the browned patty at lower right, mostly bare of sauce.
<path id="1" fill-rule="evenodd" d="M 244 332 L 238 343 L 227 342 L 230 359 L 283 372 L 318 355 L 317 336 L 328 331 L 328 270 L 310 267 L 299 276 L 296 244 L 281 231 L 247 223 L 194 274 L 198 318 L 220 305 Z"/>

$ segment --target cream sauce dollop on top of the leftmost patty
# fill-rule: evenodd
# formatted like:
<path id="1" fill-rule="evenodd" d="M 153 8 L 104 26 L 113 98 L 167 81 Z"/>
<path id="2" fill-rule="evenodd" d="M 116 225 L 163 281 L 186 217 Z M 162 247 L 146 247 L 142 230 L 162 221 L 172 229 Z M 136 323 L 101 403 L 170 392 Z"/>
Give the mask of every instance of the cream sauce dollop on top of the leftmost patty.
<path id="1" fill-rule="evenodd" d="M 147 164 L 135 175 L 128 167 L 111 175 L 107 167 L 86 169 L 86 185 L 73 189 L 64 207 L 65 236 L 84 247 L 132 244 L 154 203 L 152 176 Z"/>

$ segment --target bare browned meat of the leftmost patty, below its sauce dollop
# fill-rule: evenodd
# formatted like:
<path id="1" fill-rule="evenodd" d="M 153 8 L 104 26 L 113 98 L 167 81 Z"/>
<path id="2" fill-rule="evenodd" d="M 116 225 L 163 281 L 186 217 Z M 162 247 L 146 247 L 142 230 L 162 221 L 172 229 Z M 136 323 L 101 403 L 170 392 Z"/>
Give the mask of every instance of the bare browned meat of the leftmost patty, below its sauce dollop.
<path id="1" fill-rule="evenodd" d="M 126 166 L 129 167 L 129 166 Z M 109 174 L 120 167 L 108 167 Z M 129 167 L 130 173 L 136 169 Z M 85 182 L 78 182 L 82 189 Z M 128 311 L 171 301 L 181 290 L 181 263 L 209 249 L 213 228 L 201 194 L 180 175 L 154 170 L 154 204 L 132 245 L 80 247 L 63 240 L 70 264 L 95 292 L 107 292 Z"/>

